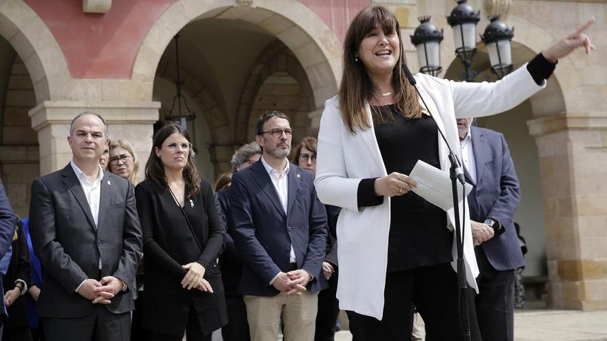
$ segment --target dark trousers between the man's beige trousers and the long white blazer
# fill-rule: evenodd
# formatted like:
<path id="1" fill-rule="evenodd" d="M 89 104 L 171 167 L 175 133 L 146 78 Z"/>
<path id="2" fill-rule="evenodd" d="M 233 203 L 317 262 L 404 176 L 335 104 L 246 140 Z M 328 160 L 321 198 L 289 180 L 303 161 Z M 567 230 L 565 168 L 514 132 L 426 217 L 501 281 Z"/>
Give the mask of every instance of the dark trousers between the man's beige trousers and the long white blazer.
<path id="1" fill-rule="evenodd" d="M 333 341 L 339 314 L 337 295 L 337 268 L 329 278 L 329 287 L 318 293 L 318 313 L 314 341 Z"/>

